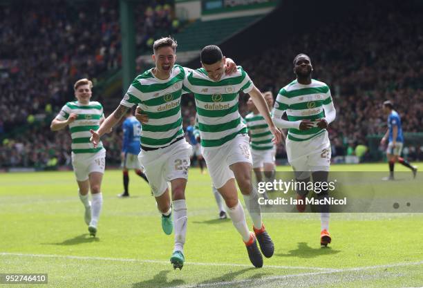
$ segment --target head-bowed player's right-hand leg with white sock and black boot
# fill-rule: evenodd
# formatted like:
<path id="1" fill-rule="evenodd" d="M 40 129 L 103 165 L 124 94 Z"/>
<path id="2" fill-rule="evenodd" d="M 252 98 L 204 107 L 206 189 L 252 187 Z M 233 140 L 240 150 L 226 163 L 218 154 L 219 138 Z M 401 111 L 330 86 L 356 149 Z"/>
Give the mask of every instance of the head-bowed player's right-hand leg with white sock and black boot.
<path id="1" fill-rule="evenodd" d="M 245 206 L 250 212 L 250 217 L 253 222 L 254 233 L 259 241 L 260 249 L 263 255 L 267 258 L 272 257 L 274 253 L 274 244 L 272 238 L 265 230 L 263 220 L 261 218 L 261 209 L 259 204 L 259 194 L 256 187 L 252 185 L 251 172 L 252 165 L 247 162 L 238 162 L 229 167 L 234 171 L 236 182 L 243 194 Z"/>

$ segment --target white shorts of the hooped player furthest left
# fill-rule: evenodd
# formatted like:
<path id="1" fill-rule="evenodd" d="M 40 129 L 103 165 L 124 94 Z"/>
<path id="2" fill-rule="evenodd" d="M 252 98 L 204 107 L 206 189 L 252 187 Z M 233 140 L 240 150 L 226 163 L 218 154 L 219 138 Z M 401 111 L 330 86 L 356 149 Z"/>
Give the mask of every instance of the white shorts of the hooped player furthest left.
<path id="1" fill-rule="evenodd" d="M 106 149 L 97 153 L 72 153 L 73 172 L 77 181 L 88 180 L 88 175 L 93 172 L 104 174 L 106 166 Z"/>

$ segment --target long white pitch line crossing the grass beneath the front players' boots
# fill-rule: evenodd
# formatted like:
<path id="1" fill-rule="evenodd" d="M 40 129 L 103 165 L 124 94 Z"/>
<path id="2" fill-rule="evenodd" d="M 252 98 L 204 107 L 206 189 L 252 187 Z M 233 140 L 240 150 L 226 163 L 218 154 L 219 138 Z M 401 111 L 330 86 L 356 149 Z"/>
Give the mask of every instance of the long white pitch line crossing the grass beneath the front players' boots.
<path id="1" fill-rule="evenodd" d="M 143 259 L 130 259 L 130 258 L 104 258 L 104 257 L 95 257 L 95 256 L 71 256 L 71 255 L 57 255 L 57 254 L 26 254 L 26 253 L 8 253 L 8 252 L 1 252 L 0 256 L 65 258 L 65 259 L 77 259 L 77 260 L 104 260 L 104 261 L 117 261 L 117 262 L 144 262 L 144 263 L 158 263 L 158 264 L 169 265 L 169 261 L 164 261 L 164 260 L 143 260 Z M 186 265 L 198 265 L 198 266 L 252 267 L 252 265 L 232 264 L 232 263 L 185 262 L 185 264 Z M 332 268 L 301 267 L 301 266 L 266 265 L 265 267 L 275 268 L 275 269 L 307 269 L 307 270 L 321 270 L 321 271 L 336 271 L 337 270 L 337 269 L 332 269 Z"/>

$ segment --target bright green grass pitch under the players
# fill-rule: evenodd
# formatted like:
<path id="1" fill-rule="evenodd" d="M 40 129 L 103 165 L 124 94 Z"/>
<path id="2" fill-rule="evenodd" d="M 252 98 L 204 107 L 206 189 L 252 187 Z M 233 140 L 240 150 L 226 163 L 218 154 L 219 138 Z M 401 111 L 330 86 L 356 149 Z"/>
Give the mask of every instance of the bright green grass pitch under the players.
<path id="1" fill-rule="evenodd" d="M 318 214 L 265 213 L 275 253 L 254 269 L 231 220 L 217 220 L 209 175 L 198 169 L 190 169 L 186 193 L 187 262 L 173 270 L 173 235 L 162 232 L 147 184 L 129 175 L 131 197 L 120 199 L 122 172 L 106 171 L 99 230 L 90 238 L 73 173 L 0 174 L 0 273 L 48 273 L 48 285 L 37 287 L 423 286 L 423 214 L 332 214 L 332 244 L 321 249 Z M 12 287 L 20 286 L 28 287 Z"/>

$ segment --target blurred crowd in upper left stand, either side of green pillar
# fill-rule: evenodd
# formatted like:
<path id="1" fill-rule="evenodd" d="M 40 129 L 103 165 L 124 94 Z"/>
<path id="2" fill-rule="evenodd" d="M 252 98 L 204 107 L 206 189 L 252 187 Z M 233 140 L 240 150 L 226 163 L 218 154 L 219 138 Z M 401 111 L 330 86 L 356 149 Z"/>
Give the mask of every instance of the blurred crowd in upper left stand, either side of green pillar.
<path id="1" fill-rule="evenodd" d="M 139 50 L 152 46 L 156 30 L 175 28 L 167 2 L 136 2 Z M 73 99 L 77 79 L 98 79 L 120 68 L 118 4 L 17 1 L 0 9 L 0 126 L 5 132 L 26 123 L 28 115 L 45 113 L 46 107 L 57 111 Z"/>

